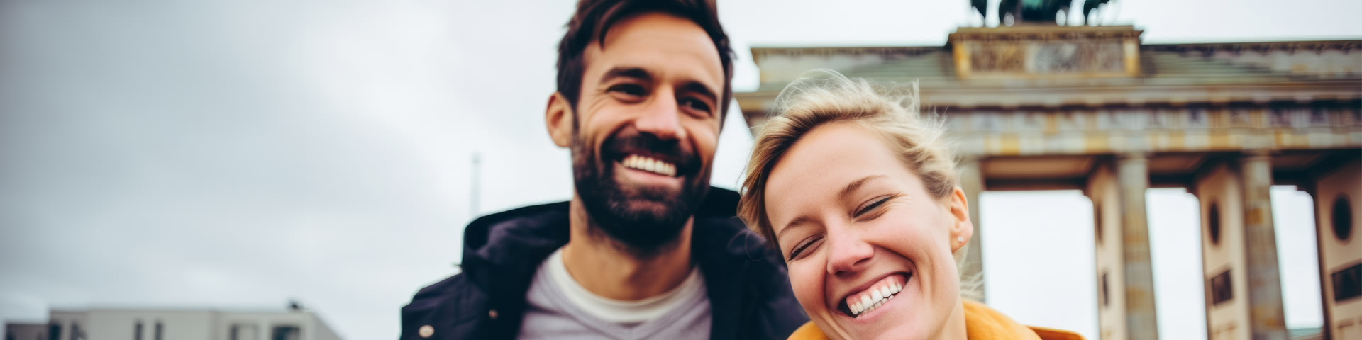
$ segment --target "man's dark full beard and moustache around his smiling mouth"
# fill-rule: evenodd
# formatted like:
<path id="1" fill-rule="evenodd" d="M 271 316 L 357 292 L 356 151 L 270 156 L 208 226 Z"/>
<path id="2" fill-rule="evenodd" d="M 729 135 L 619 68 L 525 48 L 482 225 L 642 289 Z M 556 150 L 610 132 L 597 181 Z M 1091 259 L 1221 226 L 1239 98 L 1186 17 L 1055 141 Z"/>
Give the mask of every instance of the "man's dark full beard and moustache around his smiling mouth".
<path id="1" fill-rule="evenodd" d="M 628 150 L 676 156 L 677 174 L 684 178 L 681 189 L 620 184 L 614 163 Z M 573 133 L 572 174 L 577 197 L 594 222 L 587 227 L 603 231 L 637 254 L 655 253 L 674 243 L 710 192 L 710 169 L 700 163 L 693 148 L 637 131 L 621 131 L 610 136 L 601 146 L 601 152 L 595 152 L 580 135 Z"/>

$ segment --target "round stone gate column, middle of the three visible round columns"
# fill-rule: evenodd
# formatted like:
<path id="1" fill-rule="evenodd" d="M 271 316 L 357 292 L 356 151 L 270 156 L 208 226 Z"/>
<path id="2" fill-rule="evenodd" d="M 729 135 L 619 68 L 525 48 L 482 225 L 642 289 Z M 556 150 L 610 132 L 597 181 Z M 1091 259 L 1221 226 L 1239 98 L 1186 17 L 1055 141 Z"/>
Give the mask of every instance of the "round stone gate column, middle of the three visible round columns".
<path id="1" fill-rule="evenodd" d="M 1150 226 L 1144 192 L 1150 189 L 1145 154 L 1126 154 L 1117 160 L 1121 185 L 1121 262 L 1125 279 L 1126 339 L 1159 339 L 1154 310 L 1154 267 L 1150 258 Z"/>

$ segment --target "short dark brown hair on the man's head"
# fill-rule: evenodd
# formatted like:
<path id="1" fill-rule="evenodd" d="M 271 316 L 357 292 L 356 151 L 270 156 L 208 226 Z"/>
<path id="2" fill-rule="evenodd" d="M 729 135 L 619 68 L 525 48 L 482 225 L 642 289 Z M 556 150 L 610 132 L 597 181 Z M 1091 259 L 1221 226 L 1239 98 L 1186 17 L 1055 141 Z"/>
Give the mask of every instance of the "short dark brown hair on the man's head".
<path id="1" fill-rule="evenodd" d="M 605 45 L 605 34 L 610 26 L 633 15 L 659 12 L 695 22 L 710 34 L 714 48 L 719 50 L 719 64 L 723 65 L 723 95 L 719 102 L 720 124 L 733 101 L 733 49 L 729 35 L 719 24 L 719 12 L 714 0 L 580 0 L 577 11 L 568 20 L 568 33 L 558 42 L 558 92 L 568 98 L 573 109 L 582 98 L 582 73 L 586 71 L 587 45 L 592 41 Z"/>

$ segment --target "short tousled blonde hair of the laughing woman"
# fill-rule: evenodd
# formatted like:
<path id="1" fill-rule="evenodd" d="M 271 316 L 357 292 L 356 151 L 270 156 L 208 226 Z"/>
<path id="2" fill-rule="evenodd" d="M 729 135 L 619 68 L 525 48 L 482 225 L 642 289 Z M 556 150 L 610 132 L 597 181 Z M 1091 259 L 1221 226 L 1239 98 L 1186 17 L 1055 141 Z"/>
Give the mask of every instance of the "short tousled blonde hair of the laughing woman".
<path id="1" fill-rule="evenodd" d="M 738 216 L 765 237 L 768 245 L 779 249 L 765 211 L 765 184 L 771 169 L 805 133 L 834 122 L 857 124 L 878 133 L 903 165 L 922 178 L 932 197 L 949 200 L 959 178 L 951 146 L 944 139 L 945 126 L 936 114 L 919 113 L 918 106 L 917 82 L 878 87 L 864 79 L 847 79 L 832 69 L 806 72 L 780 91 L 772 117 L 755 126 L 759 132 L 742 181 Z M 964 256 L 963 248 L 956 252 L 957 269 Z"/>

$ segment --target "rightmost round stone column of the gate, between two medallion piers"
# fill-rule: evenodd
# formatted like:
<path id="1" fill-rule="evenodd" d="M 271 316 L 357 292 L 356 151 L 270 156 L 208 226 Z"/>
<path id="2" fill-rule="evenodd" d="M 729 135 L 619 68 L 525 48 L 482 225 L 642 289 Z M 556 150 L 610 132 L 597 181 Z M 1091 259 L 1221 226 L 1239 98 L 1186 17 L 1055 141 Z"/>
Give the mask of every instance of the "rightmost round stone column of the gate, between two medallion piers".
<path id="1" fill-rule="evenodd" d="M 1286 340 L 1282 276 L 1272 228 L 1272 162 L 1267 151 L 1250 151 L 1244 174 L 1244 246 L 1249 279 L 1249 326 L 1254 340 Z"/>

